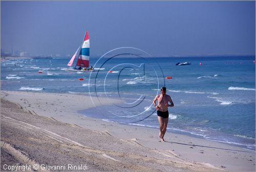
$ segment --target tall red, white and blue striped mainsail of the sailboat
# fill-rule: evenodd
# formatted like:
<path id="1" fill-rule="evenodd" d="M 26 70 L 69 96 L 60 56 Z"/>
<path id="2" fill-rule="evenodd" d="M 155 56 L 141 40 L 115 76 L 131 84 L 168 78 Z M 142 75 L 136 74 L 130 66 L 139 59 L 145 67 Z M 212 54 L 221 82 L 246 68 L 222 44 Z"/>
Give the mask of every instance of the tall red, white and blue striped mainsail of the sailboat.
<path id="1" fill-rule="evenodd" d="M 90 39 L 89 33 L 86 31 L 86 36 L 84 36 L 82 47 L 76 62 L 77 66 L 89 67 L 89 57 L 90 57 Z"/>

